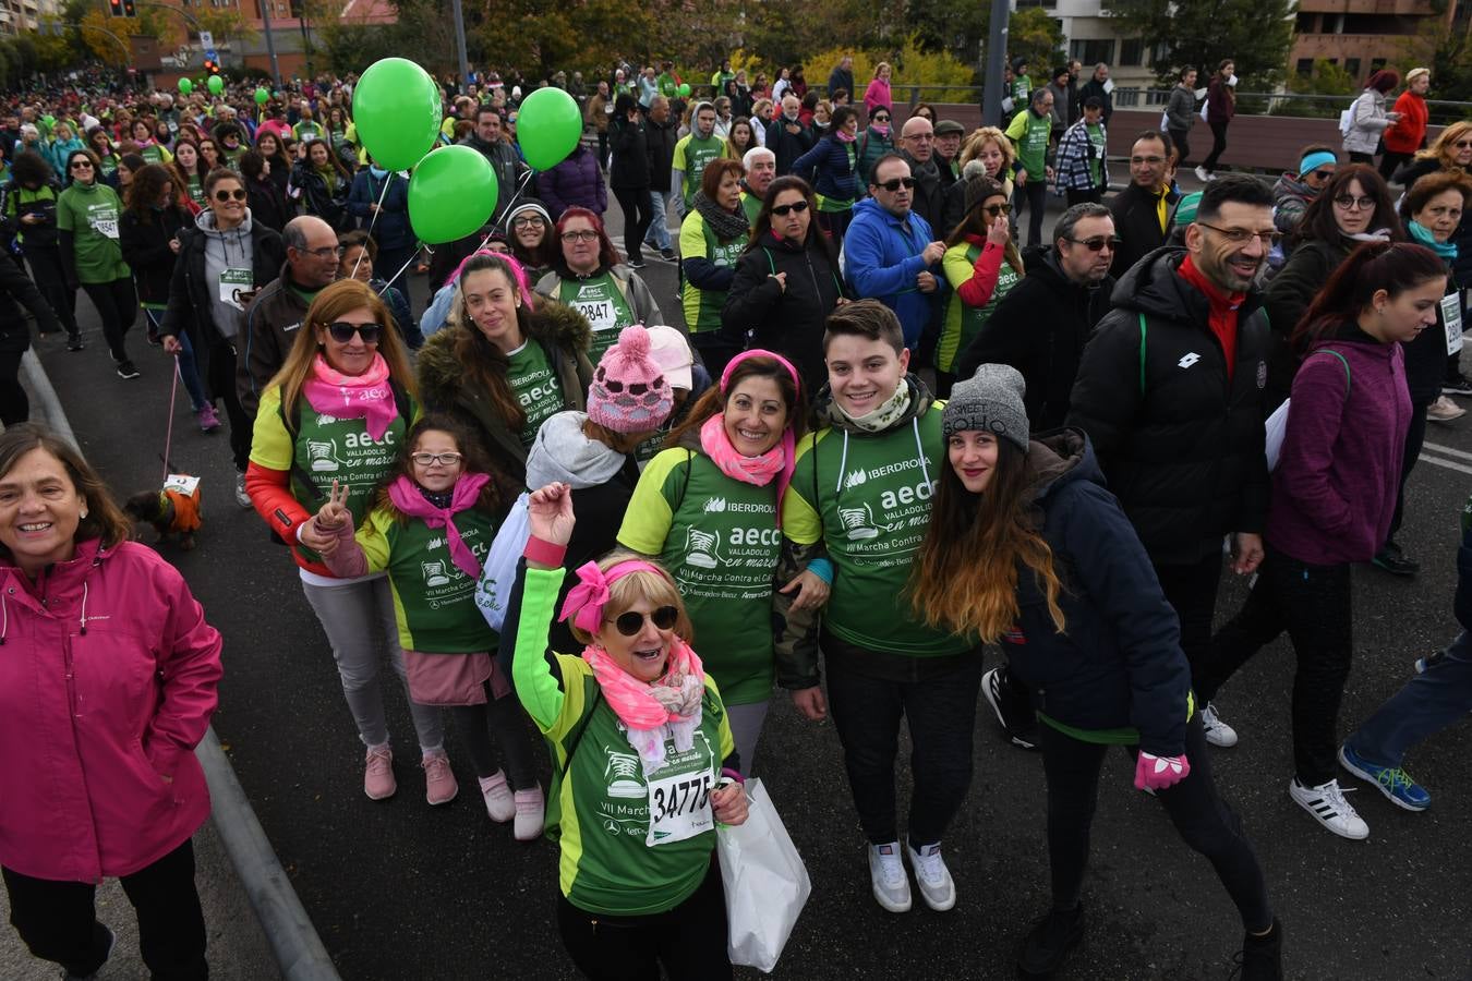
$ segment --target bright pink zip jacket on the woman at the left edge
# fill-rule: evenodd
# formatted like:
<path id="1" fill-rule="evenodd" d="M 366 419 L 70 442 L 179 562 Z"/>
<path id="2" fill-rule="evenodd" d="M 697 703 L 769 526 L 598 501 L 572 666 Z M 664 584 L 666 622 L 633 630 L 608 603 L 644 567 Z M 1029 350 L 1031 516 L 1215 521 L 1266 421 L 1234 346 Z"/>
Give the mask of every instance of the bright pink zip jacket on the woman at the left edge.
<path id="1" fill-rule="evenodd" d="M 144 546 L 81 541 L 34 584 L 0 560 L 0 865 L 97 882 L 188 840 L 209 816 L 193 749 L 219 649 Z"/>

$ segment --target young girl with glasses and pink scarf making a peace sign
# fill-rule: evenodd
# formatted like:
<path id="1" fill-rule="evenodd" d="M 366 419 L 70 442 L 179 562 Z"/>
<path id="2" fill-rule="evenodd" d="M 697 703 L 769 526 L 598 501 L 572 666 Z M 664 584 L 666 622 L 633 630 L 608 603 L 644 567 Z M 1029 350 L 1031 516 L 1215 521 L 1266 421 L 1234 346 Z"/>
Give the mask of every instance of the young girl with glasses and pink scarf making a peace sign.
<path id="1" fill-rule="evenodd" d="M 447 416 L 425 416 L 359 525 L 349 494 L 333 481 L 312 518 L 319 534 L 337 541 L 324 554 L 327 566 L 342 579 L 387 575 L 409 697 L 449 709 L 490 819 L 515 819 L 517 841 L 542 837 L 543 797 L 526 716 L 496 660 L 499 637 L 475 597 L 480 556 L 505 513 L 480 447 Z M 506 769 L 496 763 L 492 737 Z"/>

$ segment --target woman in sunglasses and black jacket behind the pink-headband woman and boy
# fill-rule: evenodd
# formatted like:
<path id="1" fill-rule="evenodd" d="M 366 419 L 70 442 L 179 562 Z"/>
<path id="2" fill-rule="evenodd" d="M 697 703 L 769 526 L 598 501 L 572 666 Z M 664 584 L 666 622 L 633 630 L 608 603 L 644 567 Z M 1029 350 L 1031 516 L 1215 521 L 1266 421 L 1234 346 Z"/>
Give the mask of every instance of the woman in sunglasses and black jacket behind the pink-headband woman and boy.
<path id="1" fill-rule="evenodd" d="M 798 366 L 804 391 L 827 384 L 823 322 L 848 302 L 833 243 L 815 213 L 807 181 L 788 175 L 771 182 L 721 310 L 727 337 L 785 354 Z"/>

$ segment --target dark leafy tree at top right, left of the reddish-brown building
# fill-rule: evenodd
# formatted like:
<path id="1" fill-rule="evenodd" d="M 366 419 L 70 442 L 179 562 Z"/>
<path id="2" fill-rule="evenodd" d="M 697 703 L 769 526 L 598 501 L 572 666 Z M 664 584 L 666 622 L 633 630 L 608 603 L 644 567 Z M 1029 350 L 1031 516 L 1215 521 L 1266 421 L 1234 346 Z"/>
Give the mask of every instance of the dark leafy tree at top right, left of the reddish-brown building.
<path id="1" fill-rule="evenodd" d="M 1157 51 L 1156 78 L 1172 85 L 1182 68 L 1206 79 L 1222 59 L 1250 79 L 1244 91 L 1269 91 L 1282 79 L 1292 47 L 1292 0 L 1110 0 L 1120 34 Z"/>

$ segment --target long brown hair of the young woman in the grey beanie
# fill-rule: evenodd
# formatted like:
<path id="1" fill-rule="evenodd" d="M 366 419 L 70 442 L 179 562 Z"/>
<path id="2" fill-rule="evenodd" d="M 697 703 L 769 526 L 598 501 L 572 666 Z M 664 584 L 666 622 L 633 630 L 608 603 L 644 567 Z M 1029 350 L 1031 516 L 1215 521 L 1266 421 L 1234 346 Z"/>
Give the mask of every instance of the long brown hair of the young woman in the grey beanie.
<path id="1" fill-rule="evenodd" d="M 910 602 L 927 627 L 974 634 L 992 644 L 1017 622 L 1017 568 L 1032 571 L 1061 634 L 1063 584 L 1052 549 L 1038 534 L 1023 491 L 1027 454 L 997 440 L 997 466 L 986 493 L 973 494 L 946 462 L 930 512 L 930 528 L 910 575 Z"/>

